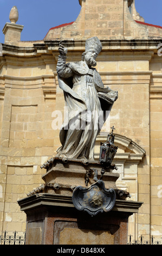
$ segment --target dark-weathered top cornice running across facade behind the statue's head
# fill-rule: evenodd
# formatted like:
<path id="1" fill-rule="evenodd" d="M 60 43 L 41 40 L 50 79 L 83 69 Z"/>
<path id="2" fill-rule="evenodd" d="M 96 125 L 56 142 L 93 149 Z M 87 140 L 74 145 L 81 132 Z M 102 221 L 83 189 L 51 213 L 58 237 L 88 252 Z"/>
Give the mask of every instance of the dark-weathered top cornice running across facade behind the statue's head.
<path id="1" fill-rule="evenodd" d="M 102 51 L 158 51 L 158 44 L 161 43 L 161 39 L 151 40 L 101 40 Z M 33 47 L 2 44 L 3 55 L 11 54 L 14 56 L 38 56 L 42 53 L 47 54 L 50 51 L 58 52 L 59 40 L 45 40 L 44 42 L 33 42 Z M 68 47 L 68 51 L 84 51 L 86 40 L 65 40 L 62 44 Z M 30 42 L 31 44 L 31 42 Z M 24 42 L 24 46 L 28 45 L 28 42 Z"/>

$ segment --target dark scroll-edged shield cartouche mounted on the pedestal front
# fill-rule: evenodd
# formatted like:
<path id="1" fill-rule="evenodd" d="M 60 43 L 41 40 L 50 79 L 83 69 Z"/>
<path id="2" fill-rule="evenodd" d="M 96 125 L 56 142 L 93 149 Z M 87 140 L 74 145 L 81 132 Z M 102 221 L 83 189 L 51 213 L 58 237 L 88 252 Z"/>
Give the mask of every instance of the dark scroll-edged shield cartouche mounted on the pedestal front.
<path id="1" fill-rule="evenodd" d="M 116 193 L 113 188 L 107 190 L 102 180 L 85 188 L 77 186 L 73 191 L 72 201 L 79 211 L 87 211 L 91 216 L 99 212 L 108 212 L 114 208 Z"/>

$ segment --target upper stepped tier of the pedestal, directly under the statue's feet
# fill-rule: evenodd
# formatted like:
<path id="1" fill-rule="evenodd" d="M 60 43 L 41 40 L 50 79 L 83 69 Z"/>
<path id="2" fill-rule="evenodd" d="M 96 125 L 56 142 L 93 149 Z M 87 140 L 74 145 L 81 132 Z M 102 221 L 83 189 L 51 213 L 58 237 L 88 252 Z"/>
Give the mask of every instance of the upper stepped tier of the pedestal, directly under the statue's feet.
<path id="1" fill-rule="evenodd" d="M 98 161 L 52 158 L 44 163 L 41 168 L 47 170 L 46 174 L 42 176 L 45 184 L 29 192 L 28 196 L 38 192 L 72 196 L 76 186 L 88 187 L 94 184 L 96 179 L 100 179 L 102 165 Z M 105 170 L 106 172 L 102 178 L 105 182 L 105 187 L 107 189 L 113 188 L 119 199 L 128 197 L 129 193 L 121 191 L 116 187 L 115 182 L 119 178 L 119 174 L 113 173 L 113 170 L 110 168 L 105 168 Z"/>

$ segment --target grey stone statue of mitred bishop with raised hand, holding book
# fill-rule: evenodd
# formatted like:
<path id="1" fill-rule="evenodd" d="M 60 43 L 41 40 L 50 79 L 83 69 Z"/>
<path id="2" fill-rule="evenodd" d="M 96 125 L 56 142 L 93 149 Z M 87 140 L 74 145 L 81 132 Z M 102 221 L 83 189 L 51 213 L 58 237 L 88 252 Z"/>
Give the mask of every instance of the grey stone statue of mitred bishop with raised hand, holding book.
<path id="1" fill-rule="evenodd" d="M 60 130 L 62 146 L 57 149 L 56 157 L 94 160 L 95 140 L 106 121 L 105 113 L 111 111 L 118 99 L 118 92 L 105 88 L 98 71 L 93 68 L 101 50 L 101 42 L 96 36 L 87 39 L 82 60 L 66 64 L 67 49 L 59 45 L 57 75 L 68 117 Z M 102 125 L 100 119 L 103 119 Z"/>

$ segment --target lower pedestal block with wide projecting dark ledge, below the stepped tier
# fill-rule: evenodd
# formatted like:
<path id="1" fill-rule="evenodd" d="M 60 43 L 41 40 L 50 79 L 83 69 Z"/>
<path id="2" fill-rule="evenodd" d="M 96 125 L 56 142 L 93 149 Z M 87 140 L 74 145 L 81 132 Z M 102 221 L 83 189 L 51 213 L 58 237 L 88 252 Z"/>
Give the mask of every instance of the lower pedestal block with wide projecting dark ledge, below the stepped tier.
<path id="1" fill-rule="evenodd" d="M 69 196 L 38 193 L 18 204 L 27 214 L 27 245 L 126 245 L 128 217 L 141 206 L 117 199 L 112 211 L 91 217 Z"/>

